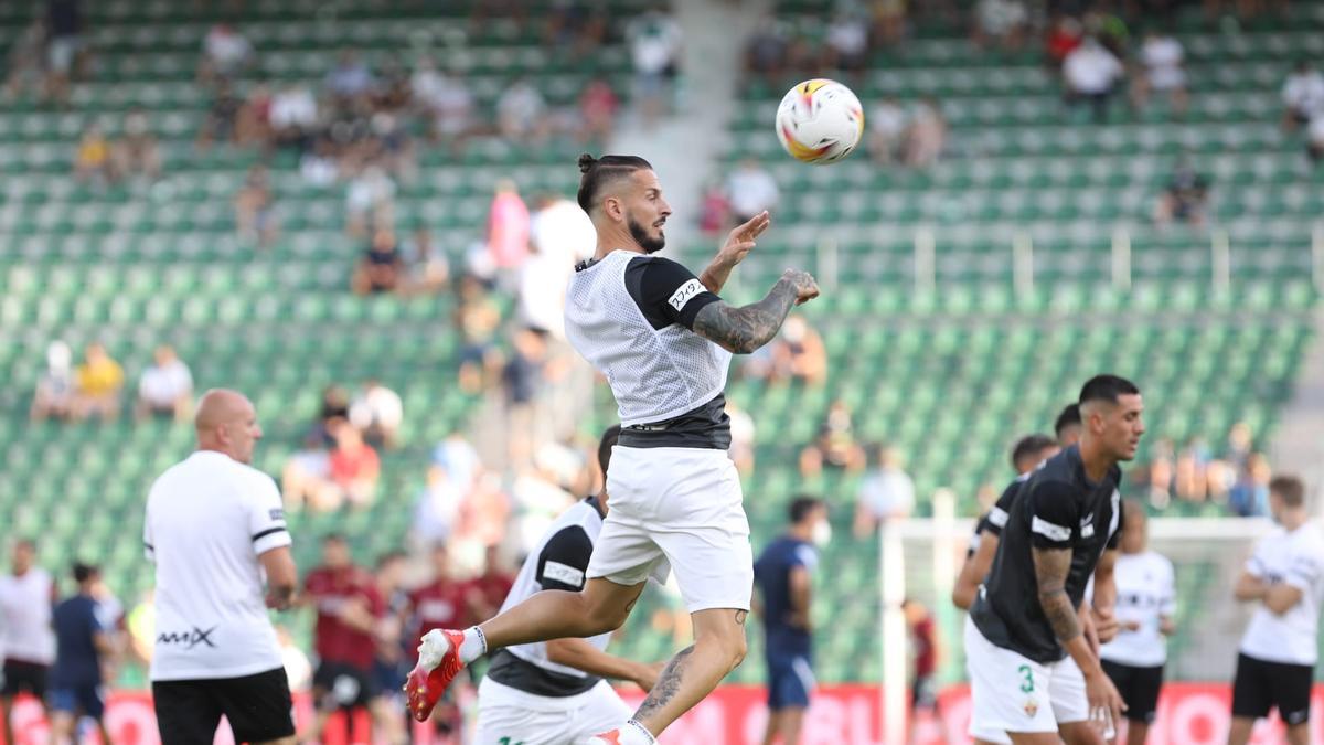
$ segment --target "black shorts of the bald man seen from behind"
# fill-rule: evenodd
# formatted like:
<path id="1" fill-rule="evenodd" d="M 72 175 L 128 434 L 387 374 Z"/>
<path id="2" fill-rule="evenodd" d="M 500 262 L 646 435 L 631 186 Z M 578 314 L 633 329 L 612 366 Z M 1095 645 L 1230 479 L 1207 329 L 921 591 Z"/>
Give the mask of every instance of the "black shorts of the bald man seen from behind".
<path id="1" fill-rule="evenodd" d="M 216 738 L 221 715 L 236 742 L 294 736 L 294 704 L 285 668 L 244 677 L 156 680 L 152 683 L 162 745 L 197 745 Z"/>

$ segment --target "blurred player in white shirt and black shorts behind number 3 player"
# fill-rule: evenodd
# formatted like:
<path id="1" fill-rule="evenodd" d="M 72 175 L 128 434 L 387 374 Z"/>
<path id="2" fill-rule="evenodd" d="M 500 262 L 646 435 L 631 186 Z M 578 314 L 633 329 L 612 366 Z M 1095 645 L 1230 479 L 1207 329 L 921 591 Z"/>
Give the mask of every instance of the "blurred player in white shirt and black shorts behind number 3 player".
<path id="1" fill-rule="evenodd" d="M 1120 628 L 1099 656 L 1127 704 L 1127 745 L 1144 745 L 1158 711 L 1177 599 L 1172 561 L 1149 550 L 1145 508 L 1127 502 L 1121 514 L 1121 554 L 1112 570 Z"/>

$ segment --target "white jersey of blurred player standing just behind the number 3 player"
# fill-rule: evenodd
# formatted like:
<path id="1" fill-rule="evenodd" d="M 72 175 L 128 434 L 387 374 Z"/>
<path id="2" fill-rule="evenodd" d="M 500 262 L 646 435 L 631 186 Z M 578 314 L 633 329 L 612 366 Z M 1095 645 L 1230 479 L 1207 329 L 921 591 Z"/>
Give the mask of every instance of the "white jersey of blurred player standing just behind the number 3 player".
<path id="1" fill-rule="evenodd" d="M 1117 620 L 1136 622 L 1099 650 L 1099 656 L 1124 665 L 1158 667 L 1168 661 L 1168 640 L 1158 631 L 1161 616 L 1172 618 L 1177 601 L 1172 562 L 1155 551 L 1121 554 L 1113 569 L 1117 583 Z"/>

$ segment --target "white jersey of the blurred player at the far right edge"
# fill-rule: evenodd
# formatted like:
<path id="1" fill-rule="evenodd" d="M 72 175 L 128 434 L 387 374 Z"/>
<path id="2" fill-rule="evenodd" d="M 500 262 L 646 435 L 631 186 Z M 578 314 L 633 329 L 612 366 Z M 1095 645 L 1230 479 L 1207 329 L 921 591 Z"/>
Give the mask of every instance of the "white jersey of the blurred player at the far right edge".
<path id="1" fill-rule="evenodd" d="M 1260 603 L 1242 636 L 1241 651 L 1258 660 L 1313 665 L 1324 599 L 1324 533 L 1313 524 L 1291 533 L 1278 526 L 1255 546 L 1246 571 L 1268 585 L 1286 582 L 1301 591 L 1301 599 L 1283 615 Z"/>

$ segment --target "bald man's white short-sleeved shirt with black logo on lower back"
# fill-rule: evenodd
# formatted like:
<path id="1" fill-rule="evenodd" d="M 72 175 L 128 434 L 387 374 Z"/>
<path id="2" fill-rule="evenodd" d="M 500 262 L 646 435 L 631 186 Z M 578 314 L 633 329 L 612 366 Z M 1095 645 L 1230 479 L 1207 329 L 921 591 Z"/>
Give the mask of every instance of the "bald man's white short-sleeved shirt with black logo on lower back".
<path id="1" fill-rule="evenodd" d="M 258 561 L 290 545 L 270 476 L 224 453 L 195 452 L 152 484 L 143 542 L 156 562 L 152 680 L 282 667 Z"/>

